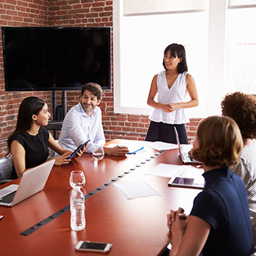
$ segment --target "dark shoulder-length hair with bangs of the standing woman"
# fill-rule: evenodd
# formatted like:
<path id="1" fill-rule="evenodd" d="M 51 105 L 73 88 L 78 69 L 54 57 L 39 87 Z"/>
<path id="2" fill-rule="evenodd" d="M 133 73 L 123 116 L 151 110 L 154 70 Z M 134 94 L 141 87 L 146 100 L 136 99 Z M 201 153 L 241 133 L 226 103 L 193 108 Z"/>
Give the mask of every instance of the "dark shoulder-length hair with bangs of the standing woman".
<path id="1" fill-rule="evenodd" d="M 164 55 L 168 54 L 168 51 L 170 51 L 172 57 L 182 57 L 182 61 L 178 64 L 178 74 L 188 71 L 187 61 L 185 58 L 185 48 L 183 45 L 178 43 L 171 43 L 168 45 L 168 47 L 165 48 Z M 164 69 L 166 70 L 164 59 L 163 65 Z"/>

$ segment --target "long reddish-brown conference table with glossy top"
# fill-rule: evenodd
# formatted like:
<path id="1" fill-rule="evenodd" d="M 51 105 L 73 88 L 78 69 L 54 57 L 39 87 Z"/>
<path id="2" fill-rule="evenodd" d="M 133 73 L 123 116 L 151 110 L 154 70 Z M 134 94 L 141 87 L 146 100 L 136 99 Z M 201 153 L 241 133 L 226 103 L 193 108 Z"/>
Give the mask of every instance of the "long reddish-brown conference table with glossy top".
<path id="1" fill-rule="evenodd" d="M 16 206 L 0 206 L 4 216 L 0 221 L 0 256 L 102 255 L 75 251 L 79 240 L 110 243 L 109 255 L 161 254 L 171 238 L 167 213 L 181 206 L 189 214 L 201 190 L 168 187 L 170 178 L 147 175 L 160 163 L 182 164 L 178 149 L 159 151 L 137 140 L 112 140 L 111 144 L 144 149 L 125 157 L 105 156 L 99 162 L 85 153 L 70 164 L 54 166 L 43 191 Z M 81 231 L 70 227 L 72 170 L 84 171 L 86 178 L 82 189 L 86 196 L 86 227 Z M 147 182 L 160 195 L 126 199 L 113 185 L 115 182 Z M 12 183 L 18 184 L 19 179 Z M 61 214 L 54 217 L 54 213 Z M 25 230 L 33 232 L 22 235 Z"/>

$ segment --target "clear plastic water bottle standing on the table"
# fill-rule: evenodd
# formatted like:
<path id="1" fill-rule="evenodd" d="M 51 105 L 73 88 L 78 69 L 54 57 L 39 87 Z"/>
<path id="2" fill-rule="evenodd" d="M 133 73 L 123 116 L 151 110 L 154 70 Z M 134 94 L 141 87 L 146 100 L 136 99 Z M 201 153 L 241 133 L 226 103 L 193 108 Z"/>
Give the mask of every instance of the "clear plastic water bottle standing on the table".
<path id="1" fill-rule="evenodd" d="M 70 205 L 71 230 L 83 230 L 85 228 L 85 195 L 79 188 L 71 192 Z"/>

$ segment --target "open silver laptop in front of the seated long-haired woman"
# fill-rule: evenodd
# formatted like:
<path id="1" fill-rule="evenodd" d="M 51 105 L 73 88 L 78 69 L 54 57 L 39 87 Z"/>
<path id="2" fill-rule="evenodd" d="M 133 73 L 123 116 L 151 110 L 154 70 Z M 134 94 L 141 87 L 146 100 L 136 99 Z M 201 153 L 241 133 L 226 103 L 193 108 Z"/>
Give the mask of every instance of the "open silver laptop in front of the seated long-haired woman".
<path id="1" fill-rule="evenodd" d="M 23 173 L 19 185 L 12 184 L 0 189 L 0 206 L 15 206 L 18 202 L 43 190 L 54 162 L 55 160 L 47 161 L 31 168 Z"/>

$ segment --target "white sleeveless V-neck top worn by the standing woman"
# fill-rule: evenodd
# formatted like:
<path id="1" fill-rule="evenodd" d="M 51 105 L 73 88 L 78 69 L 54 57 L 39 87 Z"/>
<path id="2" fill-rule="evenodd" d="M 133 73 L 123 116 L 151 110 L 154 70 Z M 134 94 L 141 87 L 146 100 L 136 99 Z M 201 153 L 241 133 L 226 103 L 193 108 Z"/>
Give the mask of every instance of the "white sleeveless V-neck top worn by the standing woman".
<path id="1" fill-rule="evenodd" d="M 157 102 L 176 103 L 185 102 L 187 87 L 185 83 L 187 72 L 178 74 L 174 84 L 168 88 L 165 71 L 157 75 Z M 164 112 L 162 109 L 154 109 L 149 116 L 151 121 L 157 123 L 182 124 L 189 123 L 186 109 L 177 109 L 175 112 Z"/>

